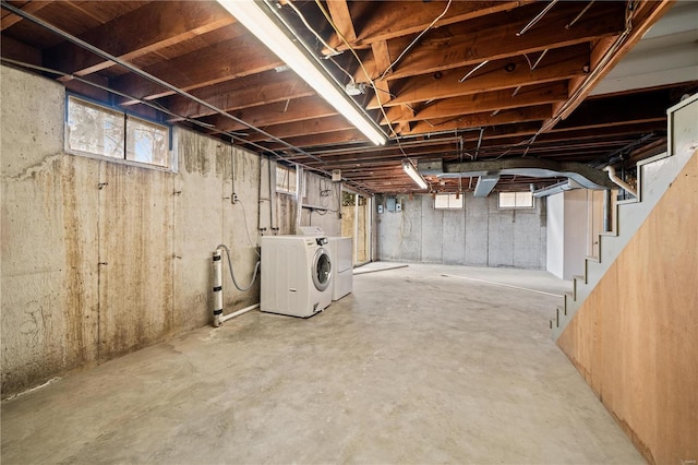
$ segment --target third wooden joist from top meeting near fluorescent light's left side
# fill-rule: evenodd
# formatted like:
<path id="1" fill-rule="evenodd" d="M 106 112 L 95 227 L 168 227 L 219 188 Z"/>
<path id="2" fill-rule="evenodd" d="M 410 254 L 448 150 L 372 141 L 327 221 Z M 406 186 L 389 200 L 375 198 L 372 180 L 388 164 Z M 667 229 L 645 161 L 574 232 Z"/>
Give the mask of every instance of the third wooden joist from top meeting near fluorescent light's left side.
<path id="1" fill-rule="evenodd" d="M 309 97 L 315 95 L 315 91 L 291 71 L 266 71 L 195 90 L 191 94 L 226 111 L 232 111 L 277 102 L 286 103 L 289 98 Z M 166 97 L 163 105 L 178 115 L 191 118 L 214 115 L 207 107 L 179 95 Z"/>

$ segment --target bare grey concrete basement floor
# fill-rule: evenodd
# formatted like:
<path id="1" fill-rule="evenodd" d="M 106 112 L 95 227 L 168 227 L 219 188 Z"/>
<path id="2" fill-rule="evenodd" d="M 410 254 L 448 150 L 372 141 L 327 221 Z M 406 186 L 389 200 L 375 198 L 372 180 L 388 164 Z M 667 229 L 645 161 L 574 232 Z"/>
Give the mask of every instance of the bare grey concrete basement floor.
<path id="1" fill-rule="evenodd" d="M 643 463 L 550 339 L 559 298 L 469 278 L 569 286 L 358 275 L 312 319 L 253 311 L 3 403 L 2 463 Z"/>

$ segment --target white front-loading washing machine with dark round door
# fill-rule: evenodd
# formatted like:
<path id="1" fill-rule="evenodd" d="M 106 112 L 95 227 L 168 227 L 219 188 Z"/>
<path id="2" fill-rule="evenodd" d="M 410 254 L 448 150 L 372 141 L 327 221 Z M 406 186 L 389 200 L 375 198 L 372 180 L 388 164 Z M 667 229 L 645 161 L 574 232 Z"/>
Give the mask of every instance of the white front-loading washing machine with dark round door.
<path id="1" fill-rule="evenodd" d="M 260 310 L 308 318 L 332 303 L 332 260 L 326 237 L 262 237 Z"/>

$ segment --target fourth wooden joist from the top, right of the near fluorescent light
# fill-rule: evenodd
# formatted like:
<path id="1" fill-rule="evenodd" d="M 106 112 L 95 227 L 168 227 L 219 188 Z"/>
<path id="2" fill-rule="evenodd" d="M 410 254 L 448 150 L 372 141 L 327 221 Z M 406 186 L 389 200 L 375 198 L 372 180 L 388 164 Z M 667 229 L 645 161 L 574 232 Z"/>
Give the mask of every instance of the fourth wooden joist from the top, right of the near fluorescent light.
<path id="1" fill-rule="evenodd" d="M 453 118 L 460 115 L 553 104 L 565 100 L 566 98 L 566 82 L 557 82 L 522 87 L 516 95 L 513 95 L 513 90 L 506 88 L 462 97 L 445 98 L 430 104 L 412 115 L 406 115 L 399 107 L 392 107 L 388 110 L 388 119 L 392 122 L 405 122 Z M 386 122 L 382 121 L 381 123 L 385 124 Z"/>

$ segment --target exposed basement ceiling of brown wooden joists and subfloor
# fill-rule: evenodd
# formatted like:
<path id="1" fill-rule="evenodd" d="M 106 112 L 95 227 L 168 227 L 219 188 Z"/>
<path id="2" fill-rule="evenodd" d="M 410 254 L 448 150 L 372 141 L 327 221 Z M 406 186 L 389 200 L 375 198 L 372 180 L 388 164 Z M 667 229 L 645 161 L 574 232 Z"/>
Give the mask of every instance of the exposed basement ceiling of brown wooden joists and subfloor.
<path id="1" fill-rule="evenodd" d="M 405 158 L 630 167 L 665 150 L 666 108 L 698 90 L 695 2 L 676 3 L 675 14 L 667 1 L 269 5 L 328 73 L 364 90 L 352 98 L 389 138 L 385 145 L 369 142 L 213 1 L 2 1 L 1 55 L 123 110 L 308 169 L 340 169 L 369 193 L 418 191 Z M 634 56 L 643 35 L 651 40 Z M 440 192 L 477 182 L 428 180 Z M 497 190 L 561 180 L 503 176 Z"/>

